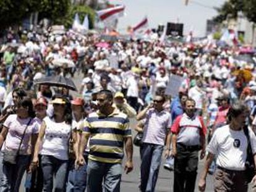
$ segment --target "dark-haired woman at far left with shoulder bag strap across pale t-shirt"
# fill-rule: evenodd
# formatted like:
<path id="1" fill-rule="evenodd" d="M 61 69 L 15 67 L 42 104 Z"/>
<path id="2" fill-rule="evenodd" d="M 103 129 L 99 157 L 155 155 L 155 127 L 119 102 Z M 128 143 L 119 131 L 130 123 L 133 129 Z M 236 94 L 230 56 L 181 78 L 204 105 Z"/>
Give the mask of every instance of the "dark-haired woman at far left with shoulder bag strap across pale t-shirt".
<path id="1" fill-rule="evenodd" d="M 0 191 L 18 192 L 23 173 L 30 165 L 38 136 L 38 123 L 30 98 L 17 102 L 16 114 L 9 115 L 0 134 Z M 15 156 L 15 158 L 11 158 Z"/>

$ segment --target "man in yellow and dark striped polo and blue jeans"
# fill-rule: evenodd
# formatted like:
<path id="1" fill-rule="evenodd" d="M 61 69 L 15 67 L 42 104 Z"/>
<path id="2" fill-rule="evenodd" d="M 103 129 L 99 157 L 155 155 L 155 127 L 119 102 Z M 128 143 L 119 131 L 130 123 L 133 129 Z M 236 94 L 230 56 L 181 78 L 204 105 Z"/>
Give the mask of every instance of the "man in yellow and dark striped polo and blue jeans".
<path id="1" fill-rule="evenodd" d="M 126 149 L 124 169 L 129 173 L 132 163 L 132 133 L 126 114 L 112 106 L 113 94 L 101 90 L 97 94 L 98 111 L 88 115 L 83 123 L 77 164 L 85 164 L 83 151 L 90 138 L 90 153 L 87 166 L 87 191 L 120 191 L 123 148 Z M 103 187 L 102 187 L 102 183 Z"/>

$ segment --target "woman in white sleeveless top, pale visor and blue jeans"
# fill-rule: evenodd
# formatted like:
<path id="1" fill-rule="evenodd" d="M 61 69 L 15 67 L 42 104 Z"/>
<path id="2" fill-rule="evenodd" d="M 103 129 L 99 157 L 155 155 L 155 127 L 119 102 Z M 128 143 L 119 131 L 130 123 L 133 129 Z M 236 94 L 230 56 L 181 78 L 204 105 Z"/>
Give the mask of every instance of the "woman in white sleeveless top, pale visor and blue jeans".
<path id="1" fill-rule="evenodd" d="M 72 110 L 70 102 L 62 96 L 55 96 L 53 117 L 45 117 L 36 141 L 32 167 L 38 165 L 41 146 L 41 167 L 43 169 L 43 191 L 66 191 L 69 166 L 69 139 L 72 131 Z"/>

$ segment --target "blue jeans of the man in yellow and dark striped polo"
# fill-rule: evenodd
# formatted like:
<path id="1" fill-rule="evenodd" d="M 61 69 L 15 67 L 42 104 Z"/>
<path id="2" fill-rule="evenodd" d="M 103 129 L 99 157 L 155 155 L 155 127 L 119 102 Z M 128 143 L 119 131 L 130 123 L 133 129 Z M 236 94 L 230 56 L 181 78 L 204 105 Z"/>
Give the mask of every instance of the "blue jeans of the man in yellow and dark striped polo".
<path id="1" fill-rule="evenodd" d="M 121 164 L 88 161 L 87 192 L 119 192 L 122 175 Z M 102 186 L 103 182 L 103 186 Z"/>

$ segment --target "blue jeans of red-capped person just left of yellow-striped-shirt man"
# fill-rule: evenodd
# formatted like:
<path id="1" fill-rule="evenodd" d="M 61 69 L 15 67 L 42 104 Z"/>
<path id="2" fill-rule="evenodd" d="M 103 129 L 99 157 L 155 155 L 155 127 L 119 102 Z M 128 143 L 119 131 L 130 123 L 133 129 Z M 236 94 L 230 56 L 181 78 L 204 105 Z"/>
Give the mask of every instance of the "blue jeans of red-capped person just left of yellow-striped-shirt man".
<path id="1" fill-rule="evenodd" d="M 74 169 L 74 162 L 70 166 L 67 187 L 69 192 L 84 192 L 86 189 L 88 154 L 84 154 L 83 158 L 85 158 L 86 163 L 79 169 Z"/>

